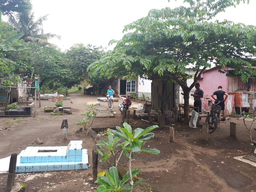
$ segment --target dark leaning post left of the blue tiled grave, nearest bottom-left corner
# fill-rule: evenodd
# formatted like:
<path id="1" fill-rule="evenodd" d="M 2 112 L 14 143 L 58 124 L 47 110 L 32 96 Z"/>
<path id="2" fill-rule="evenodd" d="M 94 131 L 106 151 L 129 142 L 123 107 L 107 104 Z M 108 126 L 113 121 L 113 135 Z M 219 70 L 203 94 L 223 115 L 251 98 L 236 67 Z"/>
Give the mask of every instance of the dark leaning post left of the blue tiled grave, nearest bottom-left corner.
<path id="1" fill-rule="evenodd" d="M 9 174 L 7 178 L 6 192 L 10 192 L 15 181 L 15 170 L 17 163 L 17 153 L 11 154 L 10 164 L 9 164 Z"/>

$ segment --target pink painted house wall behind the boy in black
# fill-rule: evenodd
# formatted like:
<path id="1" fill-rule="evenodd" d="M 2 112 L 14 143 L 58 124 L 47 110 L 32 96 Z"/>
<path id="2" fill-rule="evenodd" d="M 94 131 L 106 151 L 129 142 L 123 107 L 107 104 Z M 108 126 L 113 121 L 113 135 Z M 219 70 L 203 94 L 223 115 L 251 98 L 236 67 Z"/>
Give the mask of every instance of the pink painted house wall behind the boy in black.
<path id="1" fill-rule="evenodd" d="M 227 70 L 227 68 L 224 69 Z M 211 110 L 211 106 L 208 106 L 206 98 L 212 98 L 211 95 L 214 91 L 218 90 L 219 86 L 222 86 L 222 90 L 228 94 L 228 78 L 225 73 L 219 73 L 218 70 L 218 68 L 213 68 L 205 71 L 203 73 L 203 78 L 198 81 L 200 83 L 200 88 L 204 91 L 203 110 Z M 225 102 L 225 105 L 227 106 L 227 101 Z"/>

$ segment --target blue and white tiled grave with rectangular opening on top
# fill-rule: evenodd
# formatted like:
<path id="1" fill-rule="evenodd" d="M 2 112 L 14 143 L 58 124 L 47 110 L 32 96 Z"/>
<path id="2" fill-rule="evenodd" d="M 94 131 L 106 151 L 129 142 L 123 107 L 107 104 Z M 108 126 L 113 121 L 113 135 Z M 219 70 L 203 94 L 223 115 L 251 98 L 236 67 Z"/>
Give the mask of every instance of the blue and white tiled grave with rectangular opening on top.
<path id="1" fill-rule="evenodd" d="M 87 169 L 88 153 L 82 144 L 73 140 L 68 146 L 27 147 L 19 154 L 16 173 Z"/>

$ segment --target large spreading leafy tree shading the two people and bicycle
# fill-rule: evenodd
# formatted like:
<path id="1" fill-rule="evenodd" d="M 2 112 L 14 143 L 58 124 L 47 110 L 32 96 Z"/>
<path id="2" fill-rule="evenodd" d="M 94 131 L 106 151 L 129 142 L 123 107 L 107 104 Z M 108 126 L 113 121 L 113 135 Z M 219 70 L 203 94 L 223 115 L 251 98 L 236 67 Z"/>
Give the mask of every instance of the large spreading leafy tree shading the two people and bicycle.
<path id="1" fill-rule="evenodd" d="M 254 74 L 256 27 L 231 21 L 210 22 L 220 11 L 244 0 L 184 0 L 188 8 L 151 10 L 125 26 L 126 33 L 112 52 L 89 66 L 90 76 L 108 78 L 144 75 L 177 82 L 184 93 L 185 122 L 189 121 L 189 93 L 206 68 L 230 66 L 243 81 Z M 247 66 L 247 68 L 243 67 Z M 195 71 L 187 85 L 186 68 Z"/>

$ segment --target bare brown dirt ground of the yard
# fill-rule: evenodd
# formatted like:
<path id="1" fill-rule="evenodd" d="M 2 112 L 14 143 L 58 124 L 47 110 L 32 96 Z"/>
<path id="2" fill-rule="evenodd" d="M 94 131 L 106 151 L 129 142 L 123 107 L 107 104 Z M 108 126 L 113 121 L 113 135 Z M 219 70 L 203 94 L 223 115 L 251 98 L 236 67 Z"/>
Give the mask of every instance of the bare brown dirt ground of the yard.
<path id="1" fill-rule="evenodd" d="M 71 107 L 73 114 L 50 116 L 44 113 L 44 106 L 54 106 L 50 100 L 41 101 L 36 116 L 26 118 L 0 118 L 0 158 L 20 153 L 28 146 L 65 146 L 70 140 L 83 140 L 83 148 L 88 149 L 89 169 L 74 171 L 51 171 L 16 174 L 15 181 L 26 185 L 26 192 L 93 192 L 97 185 L 92 182 L 92 150 L 97 149 L 94 140 L 83 133 L 75 123 L 83 116 L 88 101 L 97 97 L 83 94 L 71 94 L 71 101 L 64 100 L 65 107 Z M 120 99 L 121 101 L 121 99 Z M 118 102 L 119 103 L 119 102 Z M 121 122 L 118 103 L 114 103 L 114 118 L 96 118 L 93 127 L 113 127 Z M 136 103 L 139 103 L 138 101 Z M 38 104 L 38 103 L 37 103 Z M 100 102 L 99 108 L 106 108 L 106 102 Z M 60 129 L 62 120 L 68 119 L 68 141 L 63 141 Z M 202 119 L 201 121 L 204 121 Z M 230 137 L 230 122 L 237 123 L 237 138 Z M 251 122 L 247 122 L 248 124 Z M 139 119 L 130 120 L 133 128 L 146 128 L 149 123 Z M 245 131 L 241 119 L 231 118 L 220 124 L 220 128 L 202 141 L 202 128 L 189 128 L 186 124 L 171 123 L 175 128 L 175 142 L 169 142 L 169 129 L 157 128 L 154 139 L 146 146 L 160 150 L 159 155 L 148 153 L 134 154 L 133 168 L 140 168 L 139 177 L 147 179 L 154 192 L 256 192 L 256 167 L 233 159 L 251 152 L 250 137 Z M 5 129 L 6 128 L 6 129 Z M 39 137 L 44 144 L 35 143 Z M 256 131 L 253 131 L 253 138 Z M 122 160 L 123 163 L 126 159 Z M 99 163 L 98 171 L 108 169 L 106 163 Z M 5 191 L 7 173 L 0 174 L 0 192 Z"/>

